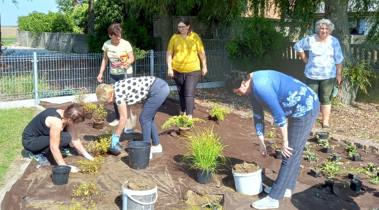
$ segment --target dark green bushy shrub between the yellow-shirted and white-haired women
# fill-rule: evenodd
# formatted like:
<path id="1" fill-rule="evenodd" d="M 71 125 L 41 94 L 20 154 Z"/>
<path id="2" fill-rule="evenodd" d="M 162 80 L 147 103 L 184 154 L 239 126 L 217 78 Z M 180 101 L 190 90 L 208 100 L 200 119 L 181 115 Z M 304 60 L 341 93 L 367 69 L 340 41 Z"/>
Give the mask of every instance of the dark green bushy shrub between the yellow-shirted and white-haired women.
<path id="1" fill-rule="evenodd" d="M 229 52 L 229 59 L 234 62 L 268 62 L 283 40 L 283 35 L 276 30 L 272 21 L 253 17 L 242 23 L 240 34 L 228 42 L 225 48 Z"/>

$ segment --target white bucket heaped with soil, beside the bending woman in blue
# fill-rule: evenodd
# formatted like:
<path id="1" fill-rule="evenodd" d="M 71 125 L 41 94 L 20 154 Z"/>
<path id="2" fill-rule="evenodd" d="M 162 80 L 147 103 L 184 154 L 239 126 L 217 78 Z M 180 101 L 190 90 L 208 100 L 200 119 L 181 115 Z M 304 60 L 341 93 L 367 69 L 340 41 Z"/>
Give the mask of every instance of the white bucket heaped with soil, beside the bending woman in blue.
<path id="1" fill-rule="evenodd" d="M 237 193 L 257 195 L 262 192 L 262 167 L 253 173 L 237 173 L 232 170 Z"/>

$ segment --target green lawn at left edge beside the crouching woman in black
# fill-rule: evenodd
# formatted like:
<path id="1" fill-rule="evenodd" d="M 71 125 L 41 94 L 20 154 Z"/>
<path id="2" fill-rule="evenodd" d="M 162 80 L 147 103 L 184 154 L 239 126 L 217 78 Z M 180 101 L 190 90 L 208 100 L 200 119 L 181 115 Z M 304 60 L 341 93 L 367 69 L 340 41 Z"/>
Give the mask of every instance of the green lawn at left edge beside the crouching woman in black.
<path id="1" fill-rule="evenodd" d="M 21 135 L 36 114 L 35 108 L 0 109 L 0 184 L 16 157 L 21 157 Z"/>

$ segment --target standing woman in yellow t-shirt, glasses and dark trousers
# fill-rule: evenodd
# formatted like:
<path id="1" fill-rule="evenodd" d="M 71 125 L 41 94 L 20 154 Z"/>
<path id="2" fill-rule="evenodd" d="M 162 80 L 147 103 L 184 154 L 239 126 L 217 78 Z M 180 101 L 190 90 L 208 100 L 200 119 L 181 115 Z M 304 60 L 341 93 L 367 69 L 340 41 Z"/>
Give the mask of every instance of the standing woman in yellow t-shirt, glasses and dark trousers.
<path id="1" fill-rule="evenodd" d="M 188 17 L 180 18 L 177 28 L 179 32 L 171 37 L 167 48 L 167 73 L 175 80 L 183 114 L 192 118 L 197 83 L 200 76 L 208 72 L 207 59 L 203 43 L 192 31 Z M 202 62 L 202 71 L 197 54 Z"/>

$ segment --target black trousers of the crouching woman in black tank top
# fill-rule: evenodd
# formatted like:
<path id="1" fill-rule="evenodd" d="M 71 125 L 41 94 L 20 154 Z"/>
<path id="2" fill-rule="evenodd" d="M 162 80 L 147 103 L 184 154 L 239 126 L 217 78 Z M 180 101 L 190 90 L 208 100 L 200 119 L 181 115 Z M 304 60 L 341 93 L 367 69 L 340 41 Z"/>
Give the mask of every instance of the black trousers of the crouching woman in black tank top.
<path id="1" fill-rule="evenodd" d="M 71 142 L 71 135 L 67 132 L 61 132 L 59 148 L 65 148 Z M 29 152 L 41 152 L 46 154 L 50 151 L 50 136 L 41 135 L 34 139 L 22 139 L 22 146 Z"/>

